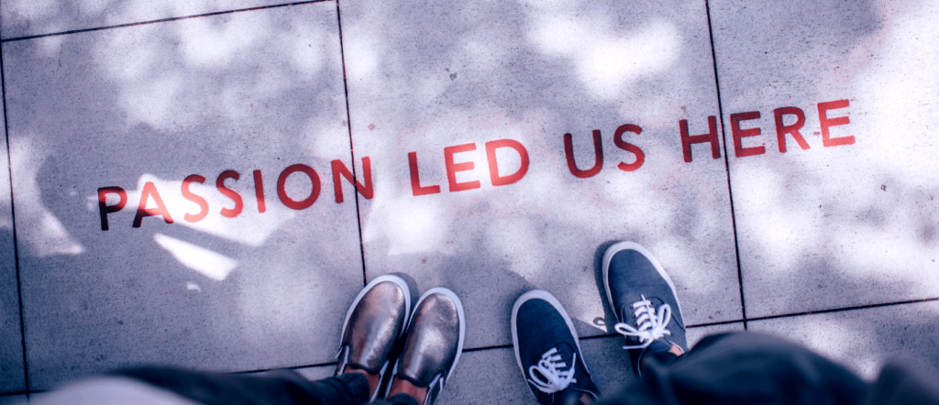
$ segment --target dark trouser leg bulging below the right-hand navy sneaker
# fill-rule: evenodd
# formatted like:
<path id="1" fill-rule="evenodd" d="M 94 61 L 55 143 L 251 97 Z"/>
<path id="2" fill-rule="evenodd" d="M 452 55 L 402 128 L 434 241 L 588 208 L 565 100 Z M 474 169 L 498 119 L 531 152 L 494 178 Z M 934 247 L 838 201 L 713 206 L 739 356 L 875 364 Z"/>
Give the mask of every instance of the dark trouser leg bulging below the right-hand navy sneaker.
<path id="1" fill-rule="evenodd" d="M 652 361 L 644 379 L 603 404 L 854 404 L 868 384 L 851 371 L 772 335 L 710 335 L 670 365 Z"/>

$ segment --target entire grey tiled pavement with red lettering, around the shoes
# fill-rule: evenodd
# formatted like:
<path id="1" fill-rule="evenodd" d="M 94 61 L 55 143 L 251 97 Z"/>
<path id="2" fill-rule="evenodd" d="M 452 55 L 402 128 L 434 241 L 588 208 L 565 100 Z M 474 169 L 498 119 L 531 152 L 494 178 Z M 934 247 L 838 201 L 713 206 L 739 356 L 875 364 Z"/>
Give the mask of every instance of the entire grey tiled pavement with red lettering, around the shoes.
<path id="1" fill-rule="evenodd" d="M 463 299 L 441 403 L 531 402 L 531 288 L 615 390 L 617 240 L 692 340 L 939 366 L 930 2 L 53 3 L 0 0 L 0 401 L 137 363 L 327 376 L 385 273 Z"/>

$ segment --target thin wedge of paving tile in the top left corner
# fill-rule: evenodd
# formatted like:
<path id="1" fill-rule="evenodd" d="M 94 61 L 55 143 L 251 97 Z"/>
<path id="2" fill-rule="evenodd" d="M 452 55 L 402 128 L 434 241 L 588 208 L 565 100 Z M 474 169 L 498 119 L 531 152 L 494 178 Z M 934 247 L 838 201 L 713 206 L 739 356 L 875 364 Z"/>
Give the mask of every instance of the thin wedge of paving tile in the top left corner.
<path id="1" fill-rule="evenodd" d="M 122 23 L 141 23 L 241 8 L 285 3 L 281 0 L 2 0 L 0 35 L 4 39 L 97 28 Z"/>

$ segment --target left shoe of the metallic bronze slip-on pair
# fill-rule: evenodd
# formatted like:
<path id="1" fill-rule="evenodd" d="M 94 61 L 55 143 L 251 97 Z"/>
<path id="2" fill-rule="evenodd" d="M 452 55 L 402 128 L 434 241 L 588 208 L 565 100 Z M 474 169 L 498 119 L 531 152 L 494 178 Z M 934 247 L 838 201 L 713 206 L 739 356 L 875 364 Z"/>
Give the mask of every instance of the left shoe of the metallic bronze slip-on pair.
<path id="1" fill-rule="evenodd" d="M 410 290 L 401 277 L 382 275 L 368 283 L 346 313 L 335 374 L 365 374 L 369 400 L 375 400 L 394 343 L 404 333 L 409 313 Z"/>

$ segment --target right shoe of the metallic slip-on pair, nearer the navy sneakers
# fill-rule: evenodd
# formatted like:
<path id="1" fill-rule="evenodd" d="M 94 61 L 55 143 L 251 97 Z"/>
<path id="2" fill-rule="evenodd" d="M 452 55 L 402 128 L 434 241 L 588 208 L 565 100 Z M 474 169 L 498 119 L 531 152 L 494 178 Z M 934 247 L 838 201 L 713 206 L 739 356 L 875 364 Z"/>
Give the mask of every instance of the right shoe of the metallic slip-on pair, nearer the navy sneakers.
<path id="1" fill-rule="evenodd" d="M 433 404 L 454 372 L 464 335 L 463 304 L 454 291 L 432 288 L 425 292 L 408 324 L 387 397 L 403 393 L 423 405 Z"/>

